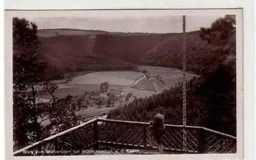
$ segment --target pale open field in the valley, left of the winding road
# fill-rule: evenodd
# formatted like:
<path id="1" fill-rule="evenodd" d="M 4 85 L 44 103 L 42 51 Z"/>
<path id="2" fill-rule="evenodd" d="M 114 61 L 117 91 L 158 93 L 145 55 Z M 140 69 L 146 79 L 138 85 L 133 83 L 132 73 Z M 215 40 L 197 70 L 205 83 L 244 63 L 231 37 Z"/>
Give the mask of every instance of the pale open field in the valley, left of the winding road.
<path id="1" fill-rule="evenodd" d="M 64 98 L 67 95 L 80 96 L 86 92 L 99 91 L 102 82 L 109 82 L 110 91 L 116 92 L 122 90 L 124 87 L 132 84 L 140 73 L 130 71 L 110 71 L 110 72 L 79 72 L 73 75 L 74 77 L 69 84 L 65 80 L 55 80 L 58 89 L 55 90 L 54 95 L 58 98 Z M 46 92 L 40 92 L 40 98 L 50 99 L 51 95 Z"/>

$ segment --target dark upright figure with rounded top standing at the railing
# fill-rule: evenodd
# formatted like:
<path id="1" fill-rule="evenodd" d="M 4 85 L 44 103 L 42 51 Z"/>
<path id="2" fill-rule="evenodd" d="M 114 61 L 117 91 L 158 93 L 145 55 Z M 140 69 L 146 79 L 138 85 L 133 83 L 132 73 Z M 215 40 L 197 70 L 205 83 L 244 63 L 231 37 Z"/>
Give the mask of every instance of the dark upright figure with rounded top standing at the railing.
<path id="1" fill-rule="evenodd" d="M 150 130 L 153 140 L 157 143 L 160 154 L 163 154 L 162 135 L 165 131 L 164 116 L 158 113 L 150 122 Z"/>

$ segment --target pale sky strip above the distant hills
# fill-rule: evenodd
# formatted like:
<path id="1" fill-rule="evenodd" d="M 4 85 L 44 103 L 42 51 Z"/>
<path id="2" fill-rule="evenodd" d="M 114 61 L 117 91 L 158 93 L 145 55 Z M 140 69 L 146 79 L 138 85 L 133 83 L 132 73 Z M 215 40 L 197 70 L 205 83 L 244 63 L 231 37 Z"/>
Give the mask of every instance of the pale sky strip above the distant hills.
<path id="1" fill-rule="evenodd" d="M 137 14 L 95 14 L 93 16 L 23 16 L 35 22 L 39 29 L 71 28 L 84 30 L 102 30 L 110 32 L 148 32 L 180 33 L 182 32 L 181 15 Z M 210 27 L 211 23 L 224 15 L 186 16 L 186 31 L 196 31 L 200 27 Z"/>

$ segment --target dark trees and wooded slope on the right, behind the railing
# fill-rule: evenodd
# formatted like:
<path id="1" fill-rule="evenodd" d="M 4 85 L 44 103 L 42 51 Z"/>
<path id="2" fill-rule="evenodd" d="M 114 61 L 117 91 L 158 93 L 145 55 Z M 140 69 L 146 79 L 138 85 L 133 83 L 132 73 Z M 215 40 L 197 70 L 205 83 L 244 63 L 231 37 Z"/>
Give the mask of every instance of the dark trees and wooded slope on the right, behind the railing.
<path id="1" fill-rule="evenodd" d="M 189 41 L 187 38 L 188 48 L 191 49 L 187 50 L 187 69 L 200 76 L 187 82 L 188 125 L 205 126 L 236 135 L 235 24 L 235 17 L 227 15 L 213 22 L 210 28 L 201 28 L 198 32 L 201 40 Z M 200 41 L 204 44 L 199 45 Z M 166 42 L 162 47 L 168 49 L 168 45 L 172 46 Z M 151 55 L 158 56 L 156 62 L 161 62 L 166 56 L 157 52 L 164 49 L 152 52 Z M 171 56 L 168 60 L 175 62 L 180 58 Z M 160 111 L 165 115 L 166 123 L 182 124 L 181 109 L 182 87 L 177 85 L 159 95 L 136 99 L 126 107 L 111 111 L 108 118 L 149 121 Z"/>

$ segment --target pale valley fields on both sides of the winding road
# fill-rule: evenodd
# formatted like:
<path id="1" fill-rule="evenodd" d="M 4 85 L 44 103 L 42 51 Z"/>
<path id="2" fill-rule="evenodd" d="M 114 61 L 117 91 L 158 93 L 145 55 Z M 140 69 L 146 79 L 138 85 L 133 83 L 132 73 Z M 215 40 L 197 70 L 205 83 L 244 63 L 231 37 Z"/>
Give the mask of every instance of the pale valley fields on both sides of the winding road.
<path id="1" fill-rule="evenodd" d="M 100 84 L 102 82 L 109 82 L 110 91 L 121 91 L 125 94 L 132 93 L 134 96 L 148 97 L 156 92 L 160 93 L 164 89 L 174 87 L 178 82 L 183 81 L 182 72 L 175 68 L 155 67 L 155 66 L 139 66 L 143 70 L 146 70 L 151 77 L 159 75 L 163 82 L 152 81 L 144 78 L 130 88 L 131 85 L 140 76 L 140 73 L 130 71 L 109 71 L 109 72 L 79 72 L 74 75 L 81 75 L 74 77 L 70 84 L 65 84 L 65 81 L 58 80 L 59 88 L 55 90 L 55 96 L 64 98 L 67 95 L 80 96 L 84 94 L 84 91 L 92 92 L 99 91 Z M 84 75 L 82 75 L 84 74 Z M 187 74 L 187 79 L 192 78 L 194 75 Z M 40 98 L 50 99 L 51 96 L 48 93 L 41 92 Z"/>

